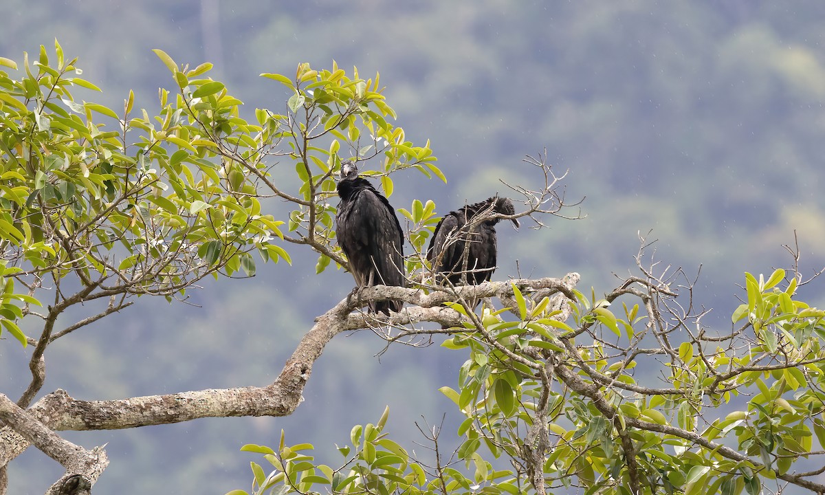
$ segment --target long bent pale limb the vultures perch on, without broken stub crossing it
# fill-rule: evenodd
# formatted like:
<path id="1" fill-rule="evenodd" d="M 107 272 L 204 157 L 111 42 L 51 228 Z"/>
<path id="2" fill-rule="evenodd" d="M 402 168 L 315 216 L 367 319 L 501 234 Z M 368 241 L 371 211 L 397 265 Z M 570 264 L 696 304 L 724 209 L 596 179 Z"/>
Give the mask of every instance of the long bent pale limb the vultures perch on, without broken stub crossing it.
<path id="1" fill-rule="evenodd" d="M 459 325 L 463 317 L 441 306 L 461 297 L 505 297 L 512 295 L 512 284 L 522 291 L 555 290 L 572 297 L 565 279 L 514 280 L 487 282 L 450 288 L 433 287 L 423 290 L 376 285 L 361 291 L 360 298 L 342 300 L 326 314 L 318 317 L 295 348 L 277 380 L 265 387 L 208 389 L 179 394 L 151 395 L 104 401 L 83 401 L 71 398 L 63 390 L 48 394 L 35 403 L 29 414 L 51 431 L 115 430 L 151 425 L 186 422 L 200 417 L 288 416 L 303 400 L 301 394 L 309 380 L 314 362 L 323 348 L 340 332 L 369 328 L 375 324 L 405 325 L 436 322 Z M 379 299 L 403 299 L 413 306 L 389 317 L 352 313 L 356 301 L 367 304 Z M 0 466 L 20 455 L 31 439 L 21 436 L 16 428 L 0 429 Z M 36 445 L 36 444 L 35 444 Z"/>

